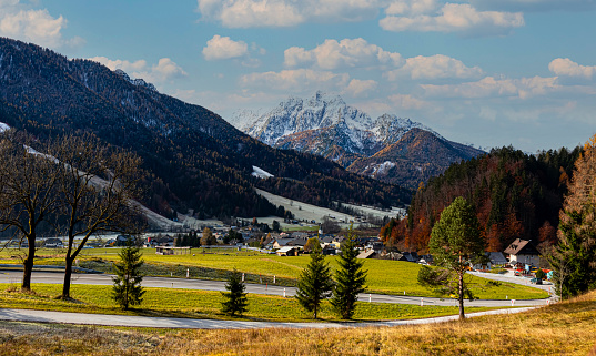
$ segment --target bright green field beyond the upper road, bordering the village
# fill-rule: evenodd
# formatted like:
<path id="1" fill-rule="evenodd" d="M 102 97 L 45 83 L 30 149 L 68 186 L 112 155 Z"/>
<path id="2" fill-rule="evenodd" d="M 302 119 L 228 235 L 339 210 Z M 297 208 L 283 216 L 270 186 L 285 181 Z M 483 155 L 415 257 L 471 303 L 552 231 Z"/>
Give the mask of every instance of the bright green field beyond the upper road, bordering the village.
<path id="1" fill-rule="evenodd" d="M 262 276 L 263 283 L 271 283 L 273 276 L 279 279 L 295 281 L 301 271 L 307 265 L 307 255 L 297 257 L 280 257 L 255 252 L 238 252 L 234 250 L 212 251 L 203 254 L 203 248 L 193 248 L 192 254 L 186 255 L 156 255 L 154 248 L 143 248 L 143 260 L 152 265 L 159 266 L 159 271 L 178 271 L 179 276 L 185 273 L 186 267 L 204 267 L 216 271 L 232 271 L 236 268 L 254 276 Z M 209 252 L 209 250 L 205 250 Z M 214 253 L 216 252 L 216 253 Z M 0 253 L 0 263 L 18 263 L 18 260 L 10 258 L 7 251 Z M 40 250 L 37 264 L 60 264 L 62 257 L 58 250 Z M 335 269 L 335 256 L 329 256 L 332 269 Z M 118 261 L 118 248 L 89 248 L 80 255 L 81 263 L 92 260 Z M 396 262 L 387 260 L 365 260 L 365 269 L 368 271 L 367 286 L 372 293 L 400 294 L 414 296 L 435 296 L 431 291 L 417 284 L 418 264 L 408 262 Z M 162 273 L 161 275 L 166 275 Z M 172 272 L 172 275 L 175 275 Z M 221 274 L 224 275 L 224 274 Z M 192 274 L 191 274 L 192 276 Z M 472 289 L 481 299 L 533 299 L 548 297 L 548 293 L 529 286 L 503 283 L 501 286 L 484 287 L 485 279 L 468 276 L 473 284 Z"/>

